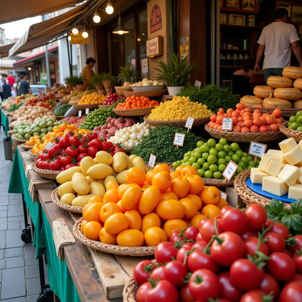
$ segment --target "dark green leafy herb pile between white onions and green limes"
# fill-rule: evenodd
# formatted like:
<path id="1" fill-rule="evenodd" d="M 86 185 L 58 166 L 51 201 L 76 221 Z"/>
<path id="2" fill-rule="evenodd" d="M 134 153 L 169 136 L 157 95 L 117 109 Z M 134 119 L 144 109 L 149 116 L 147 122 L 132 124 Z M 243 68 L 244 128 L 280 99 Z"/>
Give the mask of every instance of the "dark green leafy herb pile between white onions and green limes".
<path id="1" fill-rule="evenodd" d="M 186 134 L 183 147 L 176 148 L 173 145 L 175 132 Z M 151 129 L 131 154 L 142 157 L 145 162 L 149 160 L 150 153 L 156 156 L 156 162 L 174 162 L 182 158 L 184 153 L 193 150 L 200 140 L 201 137 L 186 132 L 184 128 L 159 126 Z"/>

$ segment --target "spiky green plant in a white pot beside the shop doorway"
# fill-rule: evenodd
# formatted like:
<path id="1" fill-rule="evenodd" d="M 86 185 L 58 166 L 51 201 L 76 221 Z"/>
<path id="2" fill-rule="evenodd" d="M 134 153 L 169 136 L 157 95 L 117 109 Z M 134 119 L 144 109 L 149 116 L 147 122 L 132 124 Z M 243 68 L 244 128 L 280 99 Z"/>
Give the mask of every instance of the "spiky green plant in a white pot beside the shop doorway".
<path id="1" fill-rule="evenodd" d="M 179 61 L 178 55 L 172 54 L 171 60 L 165 64 L 162 60 L 157 62 L 159 68 L 154 68 L 159 73 L 155 77 L 158 81 L 165 81 L 169 95 L 176 95 L 190 81 L 190 73 L 194 69 L 194 62 L 188 66 L 188 56 Z"/>

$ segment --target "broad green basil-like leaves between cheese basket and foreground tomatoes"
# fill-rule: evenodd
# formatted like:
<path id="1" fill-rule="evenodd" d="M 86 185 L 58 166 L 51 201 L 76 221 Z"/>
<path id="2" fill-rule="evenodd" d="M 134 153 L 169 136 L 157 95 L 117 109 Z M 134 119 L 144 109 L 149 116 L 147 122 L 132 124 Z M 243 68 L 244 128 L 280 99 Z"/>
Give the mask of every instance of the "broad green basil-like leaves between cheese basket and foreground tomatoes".
<path id="1" fill-rule="evenodd" d="M 291 209 L 284 209 L 284 203 L 272 199 L 270 205 L 265 206 L 267 218 L 283 223 L 292 235 L 302 234 L 302 199 L 291 203 Z"/>

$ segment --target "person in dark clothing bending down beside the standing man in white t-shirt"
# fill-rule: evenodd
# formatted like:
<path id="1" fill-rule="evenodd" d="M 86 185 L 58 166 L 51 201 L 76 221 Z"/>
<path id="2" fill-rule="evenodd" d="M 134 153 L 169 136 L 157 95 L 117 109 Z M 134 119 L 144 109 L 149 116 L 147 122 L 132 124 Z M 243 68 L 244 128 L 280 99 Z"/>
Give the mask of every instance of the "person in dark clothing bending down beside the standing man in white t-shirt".
<path id="1" fill-rule="evenodd" d="M 249 72 L 253 70 L 254 63 L 252 59 L 243 60 L 242 68 L 228 76 L 228 79 L 233 82 L 233 93 L 240 95 L 240 98 L 245 95 L 254 95 L 253 88 L 249 82 Z"/>

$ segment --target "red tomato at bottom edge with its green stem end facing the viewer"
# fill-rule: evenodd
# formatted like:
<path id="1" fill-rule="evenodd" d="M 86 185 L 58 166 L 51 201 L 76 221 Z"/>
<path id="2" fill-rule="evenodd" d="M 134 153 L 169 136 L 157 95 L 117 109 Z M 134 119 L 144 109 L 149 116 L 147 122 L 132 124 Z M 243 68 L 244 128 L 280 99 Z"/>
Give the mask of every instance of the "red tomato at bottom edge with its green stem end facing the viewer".
<path id="1" fill-rule="evenodd" d="M 194 271 L 188 285 L 192 296 L 200 302 L 207 302 L 209 298 L 216 299 L 220 291 L 217 276 L 208 269 Z"/>

